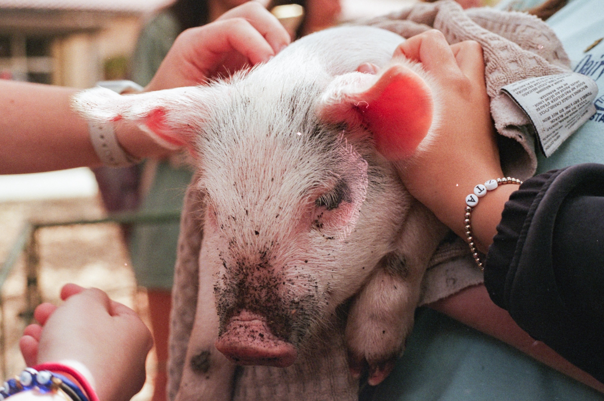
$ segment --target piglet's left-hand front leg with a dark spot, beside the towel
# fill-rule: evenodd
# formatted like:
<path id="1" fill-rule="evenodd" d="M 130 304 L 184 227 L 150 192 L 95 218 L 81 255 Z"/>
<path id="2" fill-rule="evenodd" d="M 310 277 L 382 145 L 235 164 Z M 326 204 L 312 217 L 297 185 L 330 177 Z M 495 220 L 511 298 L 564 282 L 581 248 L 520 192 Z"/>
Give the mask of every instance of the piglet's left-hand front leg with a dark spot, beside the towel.
<path id="1" fill-rule="evenodd" d="M 216 347 L 219 319 L 214 301 L 216 246 L 204 238 L 199 256 L 199 295 L 195 322 L 176 401 L 230 401 L 235 365 Z"/>

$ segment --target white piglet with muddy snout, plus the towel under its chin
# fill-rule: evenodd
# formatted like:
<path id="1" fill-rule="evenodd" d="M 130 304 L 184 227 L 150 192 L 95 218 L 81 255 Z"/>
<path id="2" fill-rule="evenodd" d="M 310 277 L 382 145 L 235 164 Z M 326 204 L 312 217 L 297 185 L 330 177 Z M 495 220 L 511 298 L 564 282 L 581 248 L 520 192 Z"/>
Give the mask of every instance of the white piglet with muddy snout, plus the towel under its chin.
<path id="1" fill-rule="evenodd" d="M 137 124 L 196 161 L 171 399 L 353 400 L 363 372 L 370 385 L 390 373 L 447 233 L 396 173 L 439 121 L 430 77 L 391 62 L 403 40 L 332 28 L 209 85 L 74 98 L 86 118 Z"/>

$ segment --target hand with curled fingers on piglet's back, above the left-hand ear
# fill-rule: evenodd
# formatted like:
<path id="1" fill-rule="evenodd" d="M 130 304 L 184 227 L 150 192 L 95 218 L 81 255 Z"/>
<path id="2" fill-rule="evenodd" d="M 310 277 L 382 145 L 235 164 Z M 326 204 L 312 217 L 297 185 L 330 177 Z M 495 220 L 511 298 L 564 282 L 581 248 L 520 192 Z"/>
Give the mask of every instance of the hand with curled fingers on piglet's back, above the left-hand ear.
<path id="1" fill-rule="evenodd" d="M 146 91 L 193 86 L 265 62 L 289 44 L 288 32 L 260 2 L 249 1 L 214 22 L 182 32 Z"/>

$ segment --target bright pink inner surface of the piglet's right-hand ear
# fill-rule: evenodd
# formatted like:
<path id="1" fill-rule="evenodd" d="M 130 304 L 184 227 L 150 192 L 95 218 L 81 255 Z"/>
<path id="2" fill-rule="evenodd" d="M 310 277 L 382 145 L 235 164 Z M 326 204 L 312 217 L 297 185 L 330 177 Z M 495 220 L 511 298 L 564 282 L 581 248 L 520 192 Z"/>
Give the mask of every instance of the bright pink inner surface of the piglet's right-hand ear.
<path id="1" fill-rule="evenodd" d="M 431 91 L 419 75 L 403 66 L 388 68 L 356 98 L 355 106 L 373 132 L 377 151 L 387 159 L 411 156 L 432 125 Z"/>

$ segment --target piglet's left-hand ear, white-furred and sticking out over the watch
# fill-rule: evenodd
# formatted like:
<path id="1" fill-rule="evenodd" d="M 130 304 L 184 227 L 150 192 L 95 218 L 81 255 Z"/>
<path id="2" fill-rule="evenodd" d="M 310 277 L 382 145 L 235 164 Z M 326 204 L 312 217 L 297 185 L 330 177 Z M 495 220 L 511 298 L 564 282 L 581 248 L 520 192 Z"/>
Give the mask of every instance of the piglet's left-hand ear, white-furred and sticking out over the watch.
<path id="1" fill-rule="evenodd" d="M 196 134 L 207 120 L 208 89 L 203 86 L 118 95 L 105 88 L 74 95 L 72 106 L 88 120 L 136 124 L 160 146 L 194 152 Z"/>

